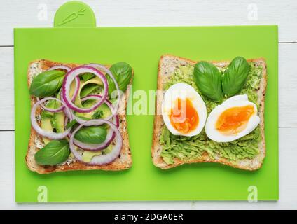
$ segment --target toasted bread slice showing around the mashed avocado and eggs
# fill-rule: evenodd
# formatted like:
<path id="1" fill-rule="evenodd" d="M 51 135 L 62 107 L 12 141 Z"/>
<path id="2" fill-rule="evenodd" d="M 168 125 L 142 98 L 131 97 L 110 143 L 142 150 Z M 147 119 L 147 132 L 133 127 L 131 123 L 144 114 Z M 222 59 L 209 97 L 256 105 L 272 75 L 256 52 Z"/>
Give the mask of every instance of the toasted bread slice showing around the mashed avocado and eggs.
<path id="1" fill-rule="evenodd" d="M 265 101 L 265 90 L 267 85 L 267 73 L 266 73 L 266 62 L 263 58 L 258 59 L 248 59 L 248 62 L 255 62 L 256 66 L 263 66 L 262 78 L 260 81 L 260 87 L 257 90 L 258 95 L 258 116 L 261 118 L 260 122 L 260 130 L 261 130 L 261 141 L 258 144 L 259 153 L 253 159 L 244 159 L 244 160 L 228 160 L 226 158 L 216 156 L 215 159 L 209 157 L 209 155 L 205 152 L 198 159 L 183 161 L 179 158 L 174 158 L 174 164 L 167 165 L 167 163 L 161 157 L 162 145 L 160 145 L 160 134 L 164 125 L 162 115 L 159 113 L 160 107 L 163 101 L 163 91 L 157 91 L 156 95 L 156 108 L 155 108 L 155 120 L 153 124 L 153 144 L 151 147 L 151 156 L 153 160 L 153 164 L 156 167 L 160 167 L 161 169 L 168 169 L 172 167 L 177 167 L 179 165 L 183 165 L 185 163 L 194 163 L 194 162 L 219 162 L 225 165 L 229 165 L 231 167 L 236 167 L 240 169 L 248 169 L 255 170 L 259 169 L 263 163 L 263 159 L 265 158 L 265 135 L 264 135 L 264 101 Z M 163 90 L 163 85 L 166 82 L 166 79 L 174 73 L 174 70 L 179 65 L 191 65 L 194 66 L 197 62 L 192 61 L 190 59 L 185 59 L 181 57 L 176 57 L 173 55 L 163 55 L 160 58 L 159 69 L 158 69 L 158 90 Z M 212 62 L 217 67 L 224 67 L 228 65 L 230 62 Z"/>

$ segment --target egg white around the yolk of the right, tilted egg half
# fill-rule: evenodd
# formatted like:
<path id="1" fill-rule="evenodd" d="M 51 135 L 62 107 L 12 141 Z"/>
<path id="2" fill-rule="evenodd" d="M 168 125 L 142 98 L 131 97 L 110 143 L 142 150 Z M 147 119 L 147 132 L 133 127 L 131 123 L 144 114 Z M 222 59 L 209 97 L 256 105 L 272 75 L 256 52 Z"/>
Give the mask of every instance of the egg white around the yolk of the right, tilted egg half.
<path id="1" fill-rule="evenodd" d="M 219 130 L 216 130 L 216 121 L 219 119 L 219 116 L 226 109 L 230 109 L 235 106 L 254 106 L 255 113 L 251 115 L 247 122 L 247 126 L 241 132 L 237 132 L 236 134 L 222 134 Z M 257 116 L 257 106 L 253 102 L 250 102 L 247 94 L 236 95 L 234 97 L 230 97 L 223 102 L 223 104 L 216 106 L 207 118 L 207 122 L 205 124 L 205 132 L 209 139 L 212 139 L 216 142 L 229 142 L 234 141 L 236 139 L 240 139 L 245 135 L 251 133 L 260 123 L 260 118 Z"/>

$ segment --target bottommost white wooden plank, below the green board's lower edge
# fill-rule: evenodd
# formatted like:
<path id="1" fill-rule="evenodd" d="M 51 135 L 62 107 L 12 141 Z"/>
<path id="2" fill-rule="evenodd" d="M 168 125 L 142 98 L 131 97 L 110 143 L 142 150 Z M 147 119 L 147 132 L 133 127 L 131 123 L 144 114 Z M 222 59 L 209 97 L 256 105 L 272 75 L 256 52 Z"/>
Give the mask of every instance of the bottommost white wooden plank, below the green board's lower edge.
<path id="1" fill-rule="evenodd" d="M 278 202 L 104 202 L 81 203 L 84 209 L 292 209 L 297 207 L 297 128 L 279 128 Z M 15 204 L 14 132 L 0 132 L 1 209 L 79 209 L 77 204 Z M 25 156 L 25 155 L 24 155 Z M 25 161 L 24 161 L 25 162 Z M 265 160 L 264 164 L 265 166 Z M 222 168 L 223 169 L 223 168 Z"/>

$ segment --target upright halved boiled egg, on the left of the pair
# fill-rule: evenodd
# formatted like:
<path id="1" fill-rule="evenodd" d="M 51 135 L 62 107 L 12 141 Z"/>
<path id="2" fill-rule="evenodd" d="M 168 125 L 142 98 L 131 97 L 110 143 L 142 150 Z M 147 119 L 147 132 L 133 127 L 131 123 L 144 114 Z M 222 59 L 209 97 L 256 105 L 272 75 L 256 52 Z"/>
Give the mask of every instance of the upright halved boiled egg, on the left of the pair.
<path id="1" fill-rule="evenodd" d="M 177 83 L 164 94 L 162 116 L 172 134 L 191 137 L 202 131 L 207 110 L 205 102 L 191 85 Z"/>

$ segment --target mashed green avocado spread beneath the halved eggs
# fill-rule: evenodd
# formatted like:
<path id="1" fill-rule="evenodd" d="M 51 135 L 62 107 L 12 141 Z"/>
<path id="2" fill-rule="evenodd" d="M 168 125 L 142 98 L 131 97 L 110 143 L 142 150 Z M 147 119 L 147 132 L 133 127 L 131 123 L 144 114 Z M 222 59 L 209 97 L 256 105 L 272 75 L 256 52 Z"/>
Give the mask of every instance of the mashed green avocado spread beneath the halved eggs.
<path id="1" fill-rule="evenodd" d="M 249 62 L 251 69 L 247 77 L 247 83 L 239 94 L 247 94 L 249 100 L 258 106 L 258 96 L 256 90 L 259 88 L 262 67 L 256 66 L 254 62 Z M 226 68 L 218 68 L 222 73 Z M 209 114 L 215 106 L 219 103 L 213 102 L 204 97 L 198 90 L 193 80 L 194 66 L 186 65 L 179 66 L 174 70 L 174 73 L 165 80 L 164 90 L 167 90 L 175 83 L 187 83 L 194 87 L 200 94 L 207 106 L 207 114 Z M 227 99 L 226 97 L 223 99 Z M 193 160 L 202 156 L 202 153 L 208 153 L 210 158 L 223 157 L 228 160 L 251 159 L 258 155 L 258 144 L 261 141 L 260 128 L 247 134 L 246 136 L 230 141 L 227 143 L 217 143 L 210 140 L 205 131 L 202 130 L 200 134 L 193 137 L 177 136 L 170 133 L 167 127 L 163 125 L 163 130 L 160 135 L 160 145 L 163 146 L 161 156 L 167 164 L 173 164 L 173 158 L 181 160 Z"/>

